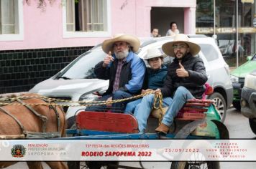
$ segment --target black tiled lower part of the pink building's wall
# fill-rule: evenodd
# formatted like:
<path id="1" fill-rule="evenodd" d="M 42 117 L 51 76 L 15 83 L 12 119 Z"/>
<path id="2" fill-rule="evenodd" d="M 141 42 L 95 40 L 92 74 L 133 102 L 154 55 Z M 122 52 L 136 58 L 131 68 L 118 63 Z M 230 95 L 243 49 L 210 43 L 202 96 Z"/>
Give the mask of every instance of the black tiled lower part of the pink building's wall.
<path id="1" fill-rule="evenodd" d="M 58 73 L 91 47 L 6 50 L 0 52 L 0 94 L 26 92 Z"/>

